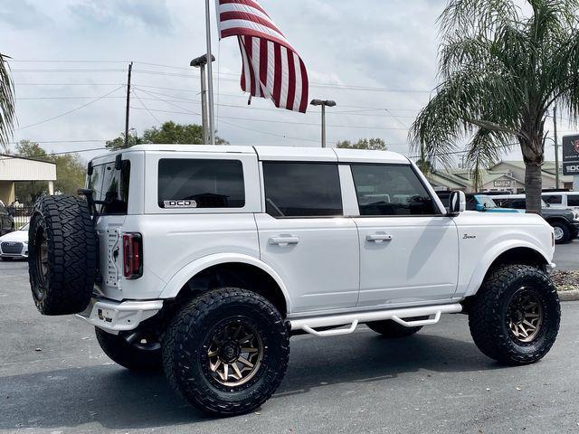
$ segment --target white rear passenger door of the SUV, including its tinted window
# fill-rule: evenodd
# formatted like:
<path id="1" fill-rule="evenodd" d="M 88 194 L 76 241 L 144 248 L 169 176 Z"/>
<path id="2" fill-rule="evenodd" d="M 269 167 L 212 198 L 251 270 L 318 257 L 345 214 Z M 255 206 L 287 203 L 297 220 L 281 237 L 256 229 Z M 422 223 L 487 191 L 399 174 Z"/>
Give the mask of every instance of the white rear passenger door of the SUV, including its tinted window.
<path id="1" fill-rule="evenodd" d="M 286 283 L 291 312 L 356 307 L 356 224 L 344 216 L 337 158 L 262 161 L 261 260 Z"/>

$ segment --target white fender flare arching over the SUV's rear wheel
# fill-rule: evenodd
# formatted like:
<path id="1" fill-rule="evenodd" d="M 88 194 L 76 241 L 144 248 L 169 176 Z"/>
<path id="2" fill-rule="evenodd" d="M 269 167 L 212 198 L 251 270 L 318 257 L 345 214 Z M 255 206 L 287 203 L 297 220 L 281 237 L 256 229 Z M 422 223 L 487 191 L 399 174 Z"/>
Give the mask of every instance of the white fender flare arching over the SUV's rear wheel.
<path id="1" fill-rule="evenodd" d="M 166 283 L 166 286 L 161 291 L 159 298 L 175 298 L 181 288 L 183 288 L 191 278 L 195 277 L 201 271 L 210 267 L 214 267 L 215 265 L 227 263 L 248 264 L 268 273 L 280 287 L 281 292 L 283 293 L 283 297 L 286 300 L 288 313 L 291 312 L 291 299 L 289 298 L 289 291 L 283 283 L 283 280 L 280 278 L 280 275 L 260 259 L 242 253 L 215 253 L 213 255 L 204 256 L 200 259 L 195 259 L 193 262 L 190 262 L 189 264 L 185 265 L 185 267 L 179 269 L 179 271 L 176 272 L 175 276 L 173 276 Z"/>

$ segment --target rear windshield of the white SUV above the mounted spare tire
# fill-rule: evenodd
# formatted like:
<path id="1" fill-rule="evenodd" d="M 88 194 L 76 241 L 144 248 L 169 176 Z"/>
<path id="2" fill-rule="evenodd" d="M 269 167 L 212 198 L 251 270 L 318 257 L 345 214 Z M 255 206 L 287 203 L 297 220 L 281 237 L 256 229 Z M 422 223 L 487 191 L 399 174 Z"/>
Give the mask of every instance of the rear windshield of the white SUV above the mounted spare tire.
<path id="1" fill-rule="evenodd" d="M 115 169 L 114 162 L 93 166 L 92 175 L 87 177 L 87 188 L 94 192 L 97 212 L 104 215 L 127 214 L 129 179 L 128 160 L 123 160 L 120 170 Z"/>

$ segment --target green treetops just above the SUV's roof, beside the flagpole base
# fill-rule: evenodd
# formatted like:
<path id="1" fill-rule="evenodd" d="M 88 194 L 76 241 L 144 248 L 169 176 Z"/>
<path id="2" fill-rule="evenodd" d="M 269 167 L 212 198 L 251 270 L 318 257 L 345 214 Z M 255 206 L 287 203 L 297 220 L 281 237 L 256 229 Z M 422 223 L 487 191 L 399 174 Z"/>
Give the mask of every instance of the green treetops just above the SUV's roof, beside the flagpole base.
<path id="1" fill-rule="evenodd" d="M 143 137 L 129 135 L 128 146 L 145 143 L 157 144 L 181 144 L 203 145 L 203 127 L 196 124 L 176 124 L 173 121 L 165 122 L 161 127 L 151 127 L 145 130 Z M 228 145 L 229 142 L 221 137 L 215 137 L 217 145 Z M 123 149 L 125 147 L 125 135 L 109 140 L 109 149 Z"/>

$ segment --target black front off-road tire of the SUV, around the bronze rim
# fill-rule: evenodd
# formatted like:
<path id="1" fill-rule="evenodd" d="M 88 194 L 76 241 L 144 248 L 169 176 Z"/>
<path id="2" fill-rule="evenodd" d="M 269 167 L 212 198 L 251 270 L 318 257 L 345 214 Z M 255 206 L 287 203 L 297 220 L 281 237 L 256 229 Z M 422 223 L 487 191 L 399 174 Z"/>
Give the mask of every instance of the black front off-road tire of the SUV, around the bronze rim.
<path id="1" fill-rule="evenodd" d="M 533 292 L 543 312 L 536 337 L 526 343 L 517 340 L 508 326 L 509 303 L 521 288 Z M 503 266 L 491 271 L 472 299 L 470 335 L 483 354 L 499 363 L 536 363 L 555 343 L 560 317 L 555 284 L 546 272 L 527 265 Z"/>

